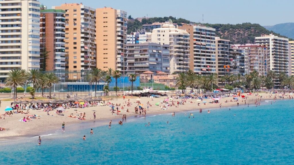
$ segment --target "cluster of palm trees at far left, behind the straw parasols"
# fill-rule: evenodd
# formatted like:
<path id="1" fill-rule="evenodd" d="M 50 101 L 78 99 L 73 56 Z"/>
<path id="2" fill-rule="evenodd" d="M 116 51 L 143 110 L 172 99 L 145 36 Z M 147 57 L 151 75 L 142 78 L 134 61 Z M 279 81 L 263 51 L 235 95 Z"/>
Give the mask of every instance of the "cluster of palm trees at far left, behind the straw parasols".
<path id="1" fill-rule="evenodd" d="M 58 83 L 59 79 L 54 73 L 41 73 L 38 69 L 31 70 L 11 70 L 8 73 L 8 77 L 4 80 L 6 87 L 14 89 L 14 98 L 17 97 L 16 88 L 23 87 L 27 83 L 33 84 L 33 89 L 30 91 L 32 98 L 35 97 L 35 92 L 38 89 L 42 90 L 42 95 L 44 95 L 44 88 L 49 88 L 49 97 L 51 98 L 52 86 Z"/>

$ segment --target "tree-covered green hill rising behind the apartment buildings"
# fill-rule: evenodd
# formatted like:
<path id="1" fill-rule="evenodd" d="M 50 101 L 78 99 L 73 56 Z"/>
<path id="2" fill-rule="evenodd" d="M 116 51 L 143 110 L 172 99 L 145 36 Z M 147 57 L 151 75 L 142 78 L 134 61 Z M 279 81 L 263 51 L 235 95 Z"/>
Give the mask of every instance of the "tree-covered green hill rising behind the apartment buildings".
<path id="1" fill-rule="evenodd" d="M 153 17 L 153 18 L 146 18 L 142 19 L 142 22 L 136 20 L 136 19 L 129 19 L 128 20 L 128 34 L 131 32 L 136 31 L 136 29 L 141 29 L 143 24 L 151 24 L 154 22 L 165 22 L 168 21 L 168 19 L 171 19 L 173 23 L 177 23 L 179 26 L 182 25 L 182 23 L 193 23 L 189 20 L 178 18 L 173 16 L 169 17 Z M 205 26 L 212 27 L 216 29 L 216 36 L 231 40 L 234 44 L 245 44 L 245 43 L 254 43 L 255 37 L 260 36 L 261 34 L 270 34 L 273 33 L 276 36 L 289 38 L 286 36 L 282 36 L 278 33 L 275 33 L 273 31 L 269 31 L 263 26 L 260 26 L 257 23 L 242 23 L 242 24 L 210 24 L 205 23 Z M 293 37 L 294 38 L 294 37 Z M 293 40 L 293 39 L 289 39 Z"/>

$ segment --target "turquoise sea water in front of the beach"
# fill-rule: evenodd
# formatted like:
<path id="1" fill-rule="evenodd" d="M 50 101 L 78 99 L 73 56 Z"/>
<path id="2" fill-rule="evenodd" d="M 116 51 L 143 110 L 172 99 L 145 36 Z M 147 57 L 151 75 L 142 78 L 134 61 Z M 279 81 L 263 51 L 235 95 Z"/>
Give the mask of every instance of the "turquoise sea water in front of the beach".
<path id="1" fill-rule="evenodd" d="M 1 164 L 293 164 L 294 101 L 157 115 L 0 146 Z M 244 108 L 244 109 L 243 109 Z M 188 112 L 190 113 L 190 112 Z M 234 115 L 235 114 L 235 115 Z M 169 121 L 170 124 L 166 122 Z M 145 127 L 145 124 L 151 126 Z M 82 140 L 86 135 L 86 141 Z"/>

